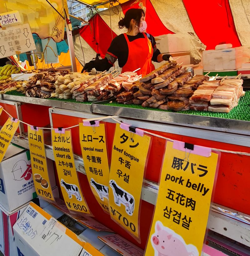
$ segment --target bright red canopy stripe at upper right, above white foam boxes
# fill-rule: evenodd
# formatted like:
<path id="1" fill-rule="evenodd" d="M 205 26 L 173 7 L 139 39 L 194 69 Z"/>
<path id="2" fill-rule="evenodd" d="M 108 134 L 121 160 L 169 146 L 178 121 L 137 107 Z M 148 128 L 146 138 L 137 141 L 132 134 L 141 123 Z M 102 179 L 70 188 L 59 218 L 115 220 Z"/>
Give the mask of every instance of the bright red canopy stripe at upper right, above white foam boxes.
<path id="1" fill-rule="evenodd" d="M 228 0 L 183 0 L 193 29 L 207 50 L 222 42 L 241 46 Z"/>

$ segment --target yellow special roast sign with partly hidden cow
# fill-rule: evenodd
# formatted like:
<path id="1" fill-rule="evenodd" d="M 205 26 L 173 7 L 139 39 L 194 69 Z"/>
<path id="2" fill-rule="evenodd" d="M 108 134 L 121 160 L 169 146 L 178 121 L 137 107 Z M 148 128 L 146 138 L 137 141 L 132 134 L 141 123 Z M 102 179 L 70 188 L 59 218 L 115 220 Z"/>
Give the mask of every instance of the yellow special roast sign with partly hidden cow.
<path id="1" fill-rule="evenodd" d="M 99 124 L 98 121 L 95 123 L 93 127 L 87 126 L 89 122 L 79 124 L 80 144 L 84 168 L 91 190 L 102 209 L 109 212 L 109 166 L 105 125 Z"/>

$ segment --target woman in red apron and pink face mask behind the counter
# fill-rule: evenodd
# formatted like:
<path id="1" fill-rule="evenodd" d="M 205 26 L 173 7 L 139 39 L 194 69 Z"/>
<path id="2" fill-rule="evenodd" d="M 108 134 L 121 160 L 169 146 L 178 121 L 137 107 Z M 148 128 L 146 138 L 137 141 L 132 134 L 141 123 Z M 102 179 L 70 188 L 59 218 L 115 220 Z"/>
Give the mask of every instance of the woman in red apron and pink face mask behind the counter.
<path id="1" fill-rule="evenodd" d="M 144 33 L 147 28 L 145 12 L 142 9 L 129 9 L 119 23 L 119 28 L 127 28 L 128 32 L 113 39 L 104 59 L 92 60 L 84 66 L 84 70 L 109 70 L 118 59 L 123 72 L 134 71 L 143 76 L 154 70 L 152 60 L 162 62 L 169 60 L 169 54 L 161 54 L 156 48 L 152 35 Z"/>

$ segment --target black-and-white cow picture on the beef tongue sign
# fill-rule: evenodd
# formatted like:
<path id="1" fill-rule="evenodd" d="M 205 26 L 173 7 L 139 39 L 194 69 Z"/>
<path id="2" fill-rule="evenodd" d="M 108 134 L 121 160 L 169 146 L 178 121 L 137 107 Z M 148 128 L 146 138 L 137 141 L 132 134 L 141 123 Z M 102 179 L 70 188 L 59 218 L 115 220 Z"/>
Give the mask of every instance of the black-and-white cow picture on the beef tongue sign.
<path id="1" fill-rule="evenodd" d="M 114 201 L 116 205 L 121 206 L 121 203 L 126 207 L 128 215 L 132 216 L 135 207 L 135 200 L 132 195 L 119 187 L 114 180 L 109 181 L 109 186 L 113 190 Z"/>

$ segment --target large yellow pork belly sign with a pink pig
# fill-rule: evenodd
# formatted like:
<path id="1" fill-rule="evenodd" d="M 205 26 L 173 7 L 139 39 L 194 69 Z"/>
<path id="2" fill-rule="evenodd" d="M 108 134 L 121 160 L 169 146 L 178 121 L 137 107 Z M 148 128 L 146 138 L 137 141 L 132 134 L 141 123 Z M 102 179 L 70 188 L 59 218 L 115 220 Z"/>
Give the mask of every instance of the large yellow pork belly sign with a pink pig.
<path id="1" fill-rule="evenodd" d="M 202 255 L 218 154 L 187 151 L 167 143 L 145 256 Z"/>

